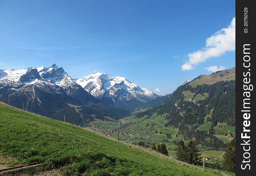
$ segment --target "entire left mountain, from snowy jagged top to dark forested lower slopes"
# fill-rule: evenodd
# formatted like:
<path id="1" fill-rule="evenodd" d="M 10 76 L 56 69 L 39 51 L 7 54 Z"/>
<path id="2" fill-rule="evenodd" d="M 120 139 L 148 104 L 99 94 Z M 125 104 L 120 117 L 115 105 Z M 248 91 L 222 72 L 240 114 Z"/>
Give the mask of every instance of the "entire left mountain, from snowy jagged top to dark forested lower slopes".
<path id="1" fill-rule="evenodd" d="M 129 110 L 112 106 L 84 90 L 64 71 L 50 67 L 0 70 L 0 101 L 79 126 L 97 119 L 118 119 Z M 78 107 L 79 109 L 75 109 Z"/>

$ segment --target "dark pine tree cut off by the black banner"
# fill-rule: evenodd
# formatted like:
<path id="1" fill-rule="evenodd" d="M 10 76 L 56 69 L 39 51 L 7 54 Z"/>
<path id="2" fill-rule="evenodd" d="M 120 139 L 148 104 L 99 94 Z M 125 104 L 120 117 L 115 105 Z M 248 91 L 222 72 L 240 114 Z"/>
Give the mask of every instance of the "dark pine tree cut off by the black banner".
<path id="1" fill-rule="evenodd" d="M 230 172 L 235 172 L 236 142 L 234 139 L 228 142 L 226 154 L 223 155 L 223 168 Z"/>

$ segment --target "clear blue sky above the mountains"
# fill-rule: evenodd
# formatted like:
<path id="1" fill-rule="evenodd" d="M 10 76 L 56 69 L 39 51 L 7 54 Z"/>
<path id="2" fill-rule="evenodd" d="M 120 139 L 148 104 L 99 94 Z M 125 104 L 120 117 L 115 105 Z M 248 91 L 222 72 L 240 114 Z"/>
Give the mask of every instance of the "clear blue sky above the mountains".
<path id="1" fill-rule="evenodd" d="M 187 79 L 235 67 L 234 31 L 215 34 L 234 17 L 229 0 L 1 0 L 0 69 L 56 63 L 72 78 L 98 70 L 168 94 Z"/>

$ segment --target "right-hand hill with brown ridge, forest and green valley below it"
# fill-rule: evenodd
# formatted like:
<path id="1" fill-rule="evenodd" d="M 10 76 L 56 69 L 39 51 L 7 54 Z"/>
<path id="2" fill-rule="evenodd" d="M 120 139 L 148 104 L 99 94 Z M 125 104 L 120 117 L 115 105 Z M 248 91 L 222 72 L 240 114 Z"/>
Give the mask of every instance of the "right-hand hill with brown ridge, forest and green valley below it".
<path id="1" fill-rule="evenodd" d="M 212 76 L 215 81 L 208 84 Z M 199 82 L 202 78 L 206 81 Z M 172 158 L 176 158 L 181 140 L 186 146 L 192 140 L 198 158 L 207 158 L 206 167 L 223 169 L 227 143 L 235 139 L 235 68 L 200 75 L 172 94 L 149 102 L 131 116 L 117 122 L 93 121 L 90 128 L 116 139 L 119 131 L 120 140 L 153 150 L 165 143 Z"/>

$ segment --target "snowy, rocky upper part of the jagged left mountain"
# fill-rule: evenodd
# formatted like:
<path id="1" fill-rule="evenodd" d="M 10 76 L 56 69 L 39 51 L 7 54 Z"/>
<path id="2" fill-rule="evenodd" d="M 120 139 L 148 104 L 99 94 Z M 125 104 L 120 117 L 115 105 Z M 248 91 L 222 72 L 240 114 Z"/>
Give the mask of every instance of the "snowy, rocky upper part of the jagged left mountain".
<path id="1" fill-rule="evenodd" d="M 0 74 L 0 84 L 3 86 L 9 85 L 14 89 L 20 89 L 27 84 L 33 84 L 45 89 L 55 87 L 51 90 L 56 90 L 55 93 L 59 94 L 62 91 L 59 91 L 59 89 L 56 88 L 57 86 L 63 89 L 63 91 L 66 92 L 66 95 L 81 102 L 87 100 L 98 102 L 96 98 L 85 91 L 79 84 L 74 82 L 62 67 L 56 66 L 56 64 L 47 68 L 43 66 L 37 68 L 29 67 L 22 70 L 0 70 Z"/>

